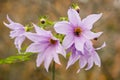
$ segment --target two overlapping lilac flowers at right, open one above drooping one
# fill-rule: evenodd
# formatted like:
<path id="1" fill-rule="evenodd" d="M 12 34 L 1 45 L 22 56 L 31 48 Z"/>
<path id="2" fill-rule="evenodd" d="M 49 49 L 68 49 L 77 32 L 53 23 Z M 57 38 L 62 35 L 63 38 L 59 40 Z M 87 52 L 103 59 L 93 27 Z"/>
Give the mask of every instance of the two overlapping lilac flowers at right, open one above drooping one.
<path id="1" fill-rule="evenodd" d="M 92 14 L 81 20 L 76 10 L 69 9 L 69 21 L 61 21 L 55 24 L 54 28 L 56 32 L 65 35 L 63 47 L 67 49 L 68 52 L 72 52 L 67 68 L 77 60 L 79 60 L 80 69 L 84 68 L 86 64 L 88 64 L 86 70 L 89 70 L 93 66 L 94 62 L 98 66 L 101 65 L 100 58 L 91 42 L 92 39 L 98 38 L 102 34 L 102 32 L 94 33 L 91 31 L 93 24 L 101 16 L 102 13 Z M 103 48 L 104 46 L 105 43 L 100 48 Z"/>

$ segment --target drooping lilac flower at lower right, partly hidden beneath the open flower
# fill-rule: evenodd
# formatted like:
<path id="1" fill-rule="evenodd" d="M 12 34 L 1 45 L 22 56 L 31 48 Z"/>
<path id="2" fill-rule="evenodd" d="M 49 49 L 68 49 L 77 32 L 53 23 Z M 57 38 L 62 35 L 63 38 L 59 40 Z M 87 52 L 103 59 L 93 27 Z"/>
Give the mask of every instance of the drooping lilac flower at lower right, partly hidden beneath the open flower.
<path id="1" fill-rule="evenodd" d="M 72 51 L 72 55 L 69 58 L 67 68 L 73 65 L 77 60 L 79 60 L 80 69 L 84 68 L 87 65 L 85 70 L 89 70 L 92 68 L 94 63 L 100 67 L 101 61 L 96 50 L 99 50 L 105 46 L 106 44 L 104 43 L 101 47 L 95 49 L 91 41 L 86 41 L 83 54 L 81 51 L 76 50 L 75 46 L 73 45 L 69 49 L 69 51 Z"/>

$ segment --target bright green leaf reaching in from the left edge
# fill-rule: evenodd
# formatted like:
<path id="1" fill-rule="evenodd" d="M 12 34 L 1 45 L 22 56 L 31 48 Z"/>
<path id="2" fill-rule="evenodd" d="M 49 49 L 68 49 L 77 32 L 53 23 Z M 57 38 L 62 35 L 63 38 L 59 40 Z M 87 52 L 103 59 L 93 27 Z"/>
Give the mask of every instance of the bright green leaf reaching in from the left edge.
<path id="1" fill-rule="evenodd" d="M 21 61 L 27 61 L 30 60 L 31 55 L 33 55 L 33 53 L 21 53 L 15 56 L 10 56 L 5 59 L 0 59 L 0 64 L 11 64 Z"/>

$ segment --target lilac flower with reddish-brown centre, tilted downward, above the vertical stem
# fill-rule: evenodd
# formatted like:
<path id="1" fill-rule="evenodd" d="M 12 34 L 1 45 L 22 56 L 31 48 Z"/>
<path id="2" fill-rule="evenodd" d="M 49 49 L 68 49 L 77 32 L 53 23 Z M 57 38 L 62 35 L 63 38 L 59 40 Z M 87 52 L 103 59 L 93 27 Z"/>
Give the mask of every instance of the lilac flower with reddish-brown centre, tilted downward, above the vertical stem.
<path id="1" fill-rule="evenodd" d="M 58 54 L 66 55 L 59 40 L 51 34 L 50 31 L 45 31 L 35 24 L 33 24 L 36 33 L 27 33 L 26 37 L 33 41 L 33 43 L 27 48 L 26 52 L 37 52 L 37 67 L 39 67 L 44 61 L 45 69 L 48 71 L 49 65 L 52 59 L 60 64 Z"/>

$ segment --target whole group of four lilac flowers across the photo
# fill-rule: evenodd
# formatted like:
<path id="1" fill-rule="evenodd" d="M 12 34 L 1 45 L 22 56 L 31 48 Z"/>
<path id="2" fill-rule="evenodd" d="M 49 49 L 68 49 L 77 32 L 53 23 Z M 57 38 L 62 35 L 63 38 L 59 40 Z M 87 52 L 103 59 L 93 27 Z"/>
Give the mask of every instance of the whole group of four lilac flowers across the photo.
<path id="1" fill-rule="evenodd" d="M 94 33 L 91 31 L 94 23 L 101 16 L 102 13 L 92 14 L 81 20 L 78 11 L 70 8 L 68 10 L 68 20 L 58 21 L 54 24 L 56 34 L 64 35 L 62 44 L 60 39 L 53 36 L 51 31 L 46 31 L 35 24 L 32 24 L 35 29 L 34 33 L 27 31 L 26 27 L 12 21 L 8 16 L 7 20 L 9 24 L 4 22 L 4 25 L 12 30 L 10 37 L 15 38 L 14 44 L 19 53 L 21 52 L 21 45 L 25 38 L 32 41 L 27 47 L 26 52 L 38 53 L 36 59 L 37 67 L 44 62 L 45 69 L 48 71 L 52 60 L 57 64 L 61 64 L 58 54 L 65 57 L 67 53 L 71 53 L 66 68 L 69 68 L 79 60 L 79 72 L 82 68 L 89 70 L 94 63 L 99 67 L 101 65 L 96 50 L 105 47 L 105 43 L 99 48 L 94 48 L 91 41 L 102 34 L 102 32 Z"/>

